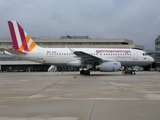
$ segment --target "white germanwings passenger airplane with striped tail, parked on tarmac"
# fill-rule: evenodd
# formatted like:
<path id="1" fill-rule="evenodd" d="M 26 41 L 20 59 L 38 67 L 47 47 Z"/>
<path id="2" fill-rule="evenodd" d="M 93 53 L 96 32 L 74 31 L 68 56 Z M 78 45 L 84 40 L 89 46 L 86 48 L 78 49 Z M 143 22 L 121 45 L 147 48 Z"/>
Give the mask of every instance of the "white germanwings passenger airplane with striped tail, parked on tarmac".
<path id="1" fill-rule="evenodd" d="M 121 66 L 145 66 L 154 62 L 146 52 L 131 48 L 43 48 L 17 21 L 8 21 L 8 26 L 13 48 L 6 49 L 4 54 L 42 64 L 81 67 L 82 75 L 90 75 L 91 70 L 112 72 Z"/>

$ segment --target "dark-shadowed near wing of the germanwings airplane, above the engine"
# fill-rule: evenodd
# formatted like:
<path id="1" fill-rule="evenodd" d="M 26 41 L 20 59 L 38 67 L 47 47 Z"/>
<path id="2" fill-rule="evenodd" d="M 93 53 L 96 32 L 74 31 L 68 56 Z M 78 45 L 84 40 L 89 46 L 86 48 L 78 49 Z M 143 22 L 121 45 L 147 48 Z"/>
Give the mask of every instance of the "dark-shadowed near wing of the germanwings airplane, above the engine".
<path id="1" fill-rule="evenodd" d="M 102 59 L 102 58 L 99 58 L 97 56 L 94 56 L 94 55 L 91 55 L 91 54 L 88 54 L 86 52 L 83 52 L 83 51 L 74 51 L 73 52 L 76 57 L 80 58 L 79 60 L 81 60 L 82 62 L 87 62 L 87 63 L 100 63 L 100 62 L 109 62 L 109 61 L 115 61 L 115 60 L 112 60 L 112 59 Z"/>

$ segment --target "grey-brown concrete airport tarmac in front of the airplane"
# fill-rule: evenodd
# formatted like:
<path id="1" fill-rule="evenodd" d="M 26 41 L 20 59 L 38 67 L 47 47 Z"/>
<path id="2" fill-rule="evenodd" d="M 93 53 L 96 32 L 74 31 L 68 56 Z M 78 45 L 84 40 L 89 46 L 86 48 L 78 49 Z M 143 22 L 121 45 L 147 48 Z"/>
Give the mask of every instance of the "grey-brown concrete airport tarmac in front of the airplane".
<path id="1" fill-rule="evenodd" d="M 160 72 L 0 73 L 0 120 L 160 120 Z"/>

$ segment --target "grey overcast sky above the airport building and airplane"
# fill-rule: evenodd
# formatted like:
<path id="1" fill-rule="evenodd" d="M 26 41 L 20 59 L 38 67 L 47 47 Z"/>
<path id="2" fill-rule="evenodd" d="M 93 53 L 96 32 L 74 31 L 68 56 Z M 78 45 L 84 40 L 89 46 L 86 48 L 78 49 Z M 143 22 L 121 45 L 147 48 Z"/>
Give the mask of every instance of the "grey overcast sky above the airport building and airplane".
<path id="1" fill-rule="evenodd" d="M 155 50 L 160 0 L 0 0 L 0 38 L 16 20 L 31 37 L 126 38 Z"/>

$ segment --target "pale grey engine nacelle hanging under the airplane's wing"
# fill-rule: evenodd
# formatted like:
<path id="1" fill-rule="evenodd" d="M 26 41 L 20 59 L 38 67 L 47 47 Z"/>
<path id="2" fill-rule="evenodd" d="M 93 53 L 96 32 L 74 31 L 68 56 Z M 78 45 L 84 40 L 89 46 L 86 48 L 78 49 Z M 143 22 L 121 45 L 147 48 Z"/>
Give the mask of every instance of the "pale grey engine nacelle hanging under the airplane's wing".
<path id="1" fill-rule="evenodd" d="M 112 72 L 117 71 L 121 68 L 120 62 L 103 62 L 99 65 L 100 71 Z"/>

